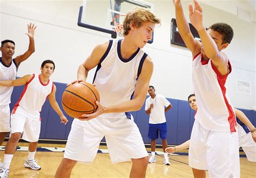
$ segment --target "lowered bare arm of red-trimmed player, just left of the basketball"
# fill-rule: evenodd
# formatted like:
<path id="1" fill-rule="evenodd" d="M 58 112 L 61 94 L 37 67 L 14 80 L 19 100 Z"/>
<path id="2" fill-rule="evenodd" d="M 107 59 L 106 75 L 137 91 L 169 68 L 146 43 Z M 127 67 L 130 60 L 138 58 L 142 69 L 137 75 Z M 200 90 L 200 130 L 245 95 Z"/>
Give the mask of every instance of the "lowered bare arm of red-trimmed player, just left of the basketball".
<path id="1" fill-rule="evenodd" d="M 56 86 L 53 85 L 53 90 L 49 94 L 49 101 L 50 101 L 51 107 L 59 115 L 60 122 L 66 125 L 68 123 L 68 119 L 66 119 L 62 110 L 60 110 L 58 102 L 56 101 L 56 98 L 55 98 L 55 93 L 56 93 Z"/>

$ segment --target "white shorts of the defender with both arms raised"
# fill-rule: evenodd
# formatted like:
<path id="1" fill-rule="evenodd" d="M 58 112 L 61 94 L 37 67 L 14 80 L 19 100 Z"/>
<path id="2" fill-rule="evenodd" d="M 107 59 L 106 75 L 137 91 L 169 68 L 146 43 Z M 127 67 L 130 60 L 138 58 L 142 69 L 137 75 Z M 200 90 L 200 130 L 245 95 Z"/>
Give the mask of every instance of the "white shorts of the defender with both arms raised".
<path id="1" fill-rule="evenodd" d="M 210 177 L 240 177 L 238 133 L 209 131 L 194 121 L 188 162 Z"/>

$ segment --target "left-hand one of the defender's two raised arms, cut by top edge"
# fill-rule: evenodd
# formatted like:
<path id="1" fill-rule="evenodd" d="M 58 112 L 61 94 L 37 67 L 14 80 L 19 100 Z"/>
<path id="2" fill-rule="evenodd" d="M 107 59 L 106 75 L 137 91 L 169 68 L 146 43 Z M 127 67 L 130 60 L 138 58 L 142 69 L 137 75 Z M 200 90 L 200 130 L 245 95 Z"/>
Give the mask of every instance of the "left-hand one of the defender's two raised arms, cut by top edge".
<path id="1" fill-rule="evenodd" d="M 195 56 L 201 50 L 201 43 L 193 37 L 190 31 L 190 26 L 188 25 L 184 15 L 180 0 L 173 0 L 173 4 L 175 6 L 176 22 L 180 36 L 186 44 L 187 48 L 190 49 L 193 56 Z"/>

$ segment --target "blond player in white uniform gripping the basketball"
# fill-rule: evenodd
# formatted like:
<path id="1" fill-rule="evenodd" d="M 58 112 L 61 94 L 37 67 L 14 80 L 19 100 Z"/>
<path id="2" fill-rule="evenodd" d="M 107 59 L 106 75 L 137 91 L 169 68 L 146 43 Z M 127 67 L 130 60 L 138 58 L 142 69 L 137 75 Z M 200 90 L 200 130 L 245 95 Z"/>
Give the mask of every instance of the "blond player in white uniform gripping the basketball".
<path id="1" fill-rule="evenodd" d="M 135 8 L 125 16 L 124 39 L 99 44 L 80 65 L 77 79 L 86 80 L 97 66 L 93 84 L 100 93 L 100 104 L 93 114 L 75 119 L 56 177 L 70 177 L 77 161 L 92 163 L 100 140 L 105 136 L 112 163 L 132 161 L 131 177 L 145 177 L 149 161 L 142 135 L 131 120 L 131 111 L 144 104 L 153 63 L 142 50 L 156 24 L 151 11 Z"/>

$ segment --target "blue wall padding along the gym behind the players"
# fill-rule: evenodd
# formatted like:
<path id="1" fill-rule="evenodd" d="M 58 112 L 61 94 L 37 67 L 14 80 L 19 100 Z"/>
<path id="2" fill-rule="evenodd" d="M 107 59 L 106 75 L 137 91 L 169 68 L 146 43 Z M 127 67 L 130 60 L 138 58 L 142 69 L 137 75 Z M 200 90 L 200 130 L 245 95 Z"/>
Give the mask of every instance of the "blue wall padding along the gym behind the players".
<path id="1" fill-rule="evenodd" d="M 71 129 L 73 119 L 70 118 L 62 108 L 62 94 L 66 88 L 66 84 L 55 83 L 57 87 L 56 91 L 56 101 L 58 102 L 60 108 L 62 109 L 65 116 L 68 118 L 69 122 L 67 125 L 60 124 L 60 119 L 58 114 L 50 106 L 49 100 L 46 100 L 42 111 L 41 111 L 41 139 L 57 139 L 66 140 Z M 10 108 L 14 107 L 23 91 L 24 86 L 14 87 L 14 92 L 11 95 Z M 149 96 L 147 96 L 149 97 Z M 165 113 L 167 120 L 167 142 L 169 145 L 178 145 L 184 141 L 190 139 L 193 123 L 194 123 L 194 111 L 190 108 L 187 101 L 169 99 L 172 108 Z M 256 126 L 256 112 L 240 109 L 245 115 L 251 120 L 252 124 Z M 145 112 L 145 103 L 140 111 L 131 112 L 134 118 L 134 122 L 139 127 L 139 131 L 142 134 L 144 143 L 150 143 L 150 139 L 147 138 L 147 133 L 149 131 L 149 115 Z M 82 132 L 82 131 L 81 131 Z M 103 138 L 102 141 L 105 141 Z M 157 139 L 156 143 L 161 143 L 161 139 Z"/>

